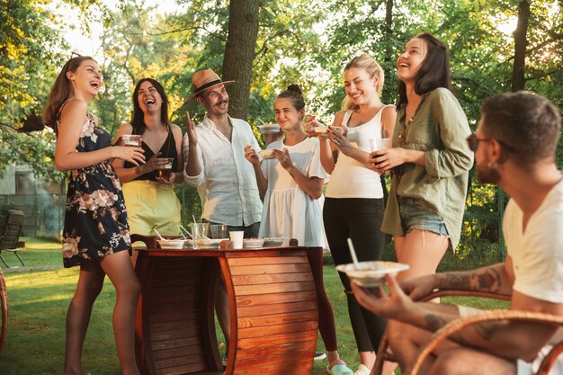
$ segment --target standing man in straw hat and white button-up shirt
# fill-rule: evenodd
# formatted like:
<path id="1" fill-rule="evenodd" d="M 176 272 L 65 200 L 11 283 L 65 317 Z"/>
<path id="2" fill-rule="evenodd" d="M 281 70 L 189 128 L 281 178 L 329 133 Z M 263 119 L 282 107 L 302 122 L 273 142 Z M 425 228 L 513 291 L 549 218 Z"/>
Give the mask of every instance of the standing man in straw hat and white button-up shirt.
<path id="1" fill-rule="evenodd" d="M 197 187 L 203 212 L 201 219 L 211 224 L 226 224 L 228 231 L 240 230 L 245 237 L 258 237 L 262 219 L 262 201 L 253 166 L 246 161 L 245 147 L 260 149 L 250 125 L 228 115 L 228 94 L 225 85 L 211 69 L 192 76 L 193 94 L 207 114 L 196 127 L 190 120 L 183 138 L 184 177 Z M 218 294 L 219 323 L 228 344 L 228 300 L 224 281 Z M 220 288 L 220 287 L 219 287 Z M 216 297 L 217 298 L 217 297 Z"/>

